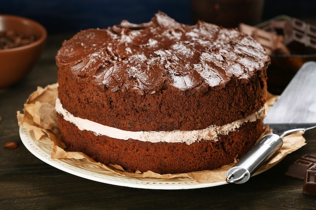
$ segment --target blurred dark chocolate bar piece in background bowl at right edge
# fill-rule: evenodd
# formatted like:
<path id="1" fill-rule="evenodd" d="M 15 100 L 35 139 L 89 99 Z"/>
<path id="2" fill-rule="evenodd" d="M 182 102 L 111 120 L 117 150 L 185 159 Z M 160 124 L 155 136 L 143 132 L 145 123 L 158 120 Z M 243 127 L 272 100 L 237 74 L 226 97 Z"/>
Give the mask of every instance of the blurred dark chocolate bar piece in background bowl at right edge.
<path id="1" fill-rule="evenodd" d="M 284 43 L 292 54 L 314 54 L 316 27 L 292 18 L 284 25 Z"/>

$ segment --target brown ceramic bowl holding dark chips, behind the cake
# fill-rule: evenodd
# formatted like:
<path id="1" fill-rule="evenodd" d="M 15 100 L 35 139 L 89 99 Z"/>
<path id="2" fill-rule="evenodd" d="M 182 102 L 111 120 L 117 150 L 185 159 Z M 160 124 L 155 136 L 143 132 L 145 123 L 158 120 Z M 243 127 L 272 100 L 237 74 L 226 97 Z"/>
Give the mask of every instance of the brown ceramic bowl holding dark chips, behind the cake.
<path id="1" fill-rule="evenodd" d="M 35 41 L 25 46 L 0 49 L 0 90 L 16 84 L 31 71 L 47 37 L 45 28 L 33 20 L 0 15 L 0 32 L 7 31 L 35 36 Z"/>

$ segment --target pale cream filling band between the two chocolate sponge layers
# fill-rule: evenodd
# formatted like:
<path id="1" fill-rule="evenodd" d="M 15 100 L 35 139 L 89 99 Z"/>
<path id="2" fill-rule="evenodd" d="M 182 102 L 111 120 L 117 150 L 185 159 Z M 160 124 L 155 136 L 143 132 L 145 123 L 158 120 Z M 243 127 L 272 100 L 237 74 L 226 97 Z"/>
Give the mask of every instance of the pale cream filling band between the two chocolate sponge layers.
<path id="1" fill-rule="evenodd" d="M 61 114 L 65 120 L 73 123 L 79 130 L 87 130 L 95 135 L 106 135 L 111 138 L 122 140 L 136 139 L 142 142 L 166 142 L 166 143 L 186 143 L 188 145 L 203 140 L 218 141 L 218 135 L 227 135 L 229 132 L 235 131 L 246 122 L 254 122 L 257 119 L 262 119 L 265 116 L 264 107 L 259 111 L 234 122 L 218 126 L 210 125 L 199 130 L 173 130 L 173 131 L 128 131 L 121 130 L 115 127 L 102 125 L 88 119 L 75 117 L 69 111 L 63 108 L 59 98 L 55 105 L 57 113 Z"/>

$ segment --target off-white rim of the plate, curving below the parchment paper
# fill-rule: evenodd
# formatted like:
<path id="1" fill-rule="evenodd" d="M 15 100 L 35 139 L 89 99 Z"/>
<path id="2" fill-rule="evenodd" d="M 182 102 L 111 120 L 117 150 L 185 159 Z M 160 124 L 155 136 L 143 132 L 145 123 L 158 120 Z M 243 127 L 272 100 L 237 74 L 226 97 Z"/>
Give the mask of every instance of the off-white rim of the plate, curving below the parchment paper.
<path id="1" fill-rule="evenodd" d="M 36 139 L 34 139 L 31 136 L 30 131 L 23 126 L 19 127 L 19 134 L 25 148 L 39 160 L 43 161 L 44 163 L 54 168 L 64 171 L 66 173 L 69 173 L 69 174 L 72 174 L 84 179 L 96 181 L 96 182 L 122 186 L 122 187 L 131 187 L 131 188 L 140 188 L 140 189 L 161 189 L 161 190 L 197 189 L 197 188 L 215 187 L 215 186 L 228 184 L 226 181 L 218 181 L 218 182 L 212 182 L 212 183 L 197 183 L 194 180 L 165 181 L 166 179 L 155 179 L 155 178 L 146 178 L 142 180 L 142 178 L 124 177 L 124 176 L 119 176 L 116 174 L 115 174 L 116 176 L 100 174 L 97 172 L 92 172 L 89 170 L 85 170 L 85 169 L 73 166 L 67 163 L 66 161 L 64 161 L 63 159 L 51 159 L 50 154 L 38 146 L 38 144 L 41 144 L 41 141 L 37 141 Z M 35 141 L 37 142 L 37 144 Z M 51 147 L 52 145 L 54 145 L 54 143 L 51 142 Z M 263 171 L 260 171 L 260 173 L 261 172 Z"/>

